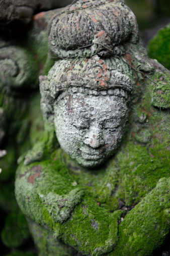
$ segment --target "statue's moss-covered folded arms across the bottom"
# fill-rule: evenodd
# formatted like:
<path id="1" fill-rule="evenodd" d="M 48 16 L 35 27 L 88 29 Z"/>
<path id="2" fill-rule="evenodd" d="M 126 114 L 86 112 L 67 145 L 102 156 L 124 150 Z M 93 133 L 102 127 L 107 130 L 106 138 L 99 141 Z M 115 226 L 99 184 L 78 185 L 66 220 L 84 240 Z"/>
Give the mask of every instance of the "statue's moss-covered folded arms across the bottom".
<path id="1" fill-rule="evenodd" d="M 134 255 L 140 250 L 139 255 L 147 255 L 147 245 L 151 253 L 169 232 L 169 179 L 161 179 L 118 224 L 123 212 L 99 207 L 90 194 L 70 185 L 61 167 L 61 174 L 45 161 L 23 168 L 16 179 L 22 212 L 84 255 Z"/>

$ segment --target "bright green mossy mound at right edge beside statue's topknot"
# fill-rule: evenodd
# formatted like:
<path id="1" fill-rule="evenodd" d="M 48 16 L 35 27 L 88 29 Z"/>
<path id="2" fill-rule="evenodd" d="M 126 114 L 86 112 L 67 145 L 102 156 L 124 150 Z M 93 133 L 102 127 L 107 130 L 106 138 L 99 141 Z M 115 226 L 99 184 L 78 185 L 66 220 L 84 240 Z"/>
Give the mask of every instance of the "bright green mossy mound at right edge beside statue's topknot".
<path id="1" fill-rule="evenodd" d="M 170 69 L 170 25 L 158 31 L 148 43 L 148 55 L 152 59 L 156 59 L 165 68 Z"/>

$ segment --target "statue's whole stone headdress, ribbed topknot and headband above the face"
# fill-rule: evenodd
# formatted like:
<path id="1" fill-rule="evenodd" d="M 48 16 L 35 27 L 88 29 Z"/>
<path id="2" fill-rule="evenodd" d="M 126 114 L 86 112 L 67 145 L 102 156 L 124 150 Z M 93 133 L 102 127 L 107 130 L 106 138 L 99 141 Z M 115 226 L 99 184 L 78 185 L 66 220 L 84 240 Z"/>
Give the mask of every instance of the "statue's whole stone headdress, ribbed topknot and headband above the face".
<path id="1" fill-rule="evenodd" d="M 133 91 L 134 70 L 124 61 L 124 45 L 136 44 L 139 36 L 136 18 L 124 1 L 79 0 L 51 18 L 48 33 L 52 53 L 64 60 L 40 77 L 45 119 L 52 118 L 54 100 L 70 87 L 92 94 Z"/>

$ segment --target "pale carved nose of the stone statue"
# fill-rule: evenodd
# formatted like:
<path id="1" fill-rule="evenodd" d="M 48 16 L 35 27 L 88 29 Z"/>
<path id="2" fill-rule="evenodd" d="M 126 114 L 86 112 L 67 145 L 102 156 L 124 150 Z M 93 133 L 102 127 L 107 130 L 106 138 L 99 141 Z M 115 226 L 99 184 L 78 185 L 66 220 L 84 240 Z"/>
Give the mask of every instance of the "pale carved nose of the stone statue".
<path id="1" fill-rule="evenodd" d="M 104 144 L 104 140 L 102 138 L 102 131 L 99 127 L 91 127 L 90 130 L 86 133 L 84 138 L 84 143 L 93 148 L 100 147 Z"/>

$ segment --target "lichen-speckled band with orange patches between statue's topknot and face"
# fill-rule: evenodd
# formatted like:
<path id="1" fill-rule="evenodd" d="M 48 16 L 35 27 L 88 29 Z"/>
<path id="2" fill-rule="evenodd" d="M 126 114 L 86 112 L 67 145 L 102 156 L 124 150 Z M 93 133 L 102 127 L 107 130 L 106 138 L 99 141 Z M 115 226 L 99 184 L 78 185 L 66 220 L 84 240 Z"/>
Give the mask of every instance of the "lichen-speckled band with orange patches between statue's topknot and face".
<path id="1" fill-rule="evenodd" d="M 131 92 L 135 85 L 134 72 L 122 62 L 116 58 L 104 61 L 98 56 L 56 62 L 48 76 L 40 77 L 41 93 L 48 93 L 54 99 L 68 87 L 98 91 L 122 88 Z"/>

